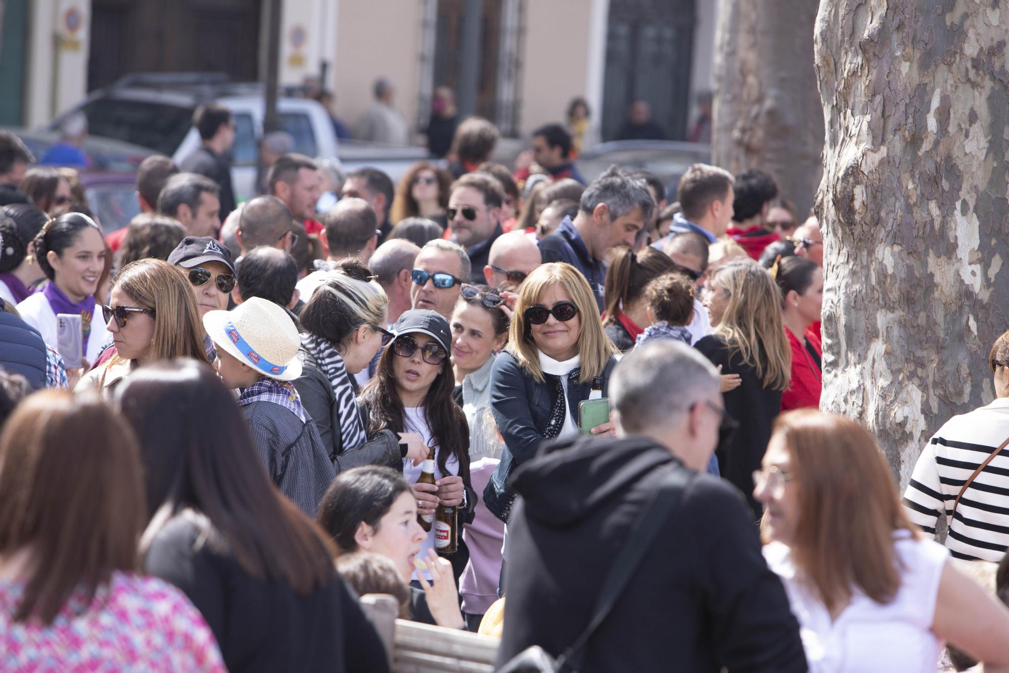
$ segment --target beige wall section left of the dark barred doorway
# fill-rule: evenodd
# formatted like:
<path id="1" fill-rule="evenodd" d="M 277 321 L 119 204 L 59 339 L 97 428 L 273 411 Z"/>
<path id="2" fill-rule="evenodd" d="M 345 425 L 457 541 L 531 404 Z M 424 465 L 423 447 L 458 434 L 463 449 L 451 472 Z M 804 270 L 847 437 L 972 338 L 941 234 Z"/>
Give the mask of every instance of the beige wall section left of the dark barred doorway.
<path id="1" fill-rule="evenodd" d="M 371 88 L 386 77 L 396 106 L 413 126 L 417 114 L 421 11 L 419 0 L 340 0 L 333 64 L 336 113 L 351 129 L 371 105 Z"/>

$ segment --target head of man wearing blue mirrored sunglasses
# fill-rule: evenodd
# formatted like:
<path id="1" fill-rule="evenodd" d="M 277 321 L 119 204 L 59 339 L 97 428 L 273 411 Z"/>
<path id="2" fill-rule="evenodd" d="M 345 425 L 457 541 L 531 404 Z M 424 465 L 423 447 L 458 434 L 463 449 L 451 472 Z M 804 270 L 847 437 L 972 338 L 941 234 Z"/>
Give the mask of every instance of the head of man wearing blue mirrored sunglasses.
<path id="1" fill-rule="evenodd" d="M 421 249 L 411 279 L 412 308 L 424 308 L 452 319 L 452 310 L 462 292 L 462 284 L 469 282 L 472 265 L 462 246 L 435 238 Z"/>

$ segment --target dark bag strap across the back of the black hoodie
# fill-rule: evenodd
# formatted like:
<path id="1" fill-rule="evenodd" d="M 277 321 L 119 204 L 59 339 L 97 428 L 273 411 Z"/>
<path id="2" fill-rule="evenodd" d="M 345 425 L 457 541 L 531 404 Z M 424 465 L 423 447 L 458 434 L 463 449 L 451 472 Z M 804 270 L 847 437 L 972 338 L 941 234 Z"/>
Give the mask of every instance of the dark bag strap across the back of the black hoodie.
<path id="1" fill-rule="evenodd" d="M 557 660 L 558 671 L 563 671 L 565 668 L 573 671 L 579 670 L 581 660 L 584 657 L 582 649 L 613 608 L 624 591 L 624 587 L 627 586 L 642 559 L 651 550 L 652 541 L 655 540 L 662 524 L 669 518 L 670 512 L 679 504 L 683 492 L 695 476 L 695 473 L 676 465 L 659 481 L 655 493 L 644 508 L 644 514 L 638 519 L 630 538 L 616 555 L 612 569 L 602 581 L 599 597 L 595 601 L 588 627 L 574 642 L 574 645 L 568 648 Z"/>

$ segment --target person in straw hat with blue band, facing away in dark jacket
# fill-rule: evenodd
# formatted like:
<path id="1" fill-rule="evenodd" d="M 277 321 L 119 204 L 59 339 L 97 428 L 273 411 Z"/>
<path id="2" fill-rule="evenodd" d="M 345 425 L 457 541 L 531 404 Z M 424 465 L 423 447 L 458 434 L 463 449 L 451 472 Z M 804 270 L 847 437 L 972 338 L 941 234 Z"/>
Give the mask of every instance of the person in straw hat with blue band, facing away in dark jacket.
<path id="1" fill-rule="evenodd" d="M 277 304 L 253 297 L 232 311 L 209 311 L 203 324 L 217 349 L 218 376 L 241 390 L 238 404 L 270 479 L 315 517 L 336 474 L 290 383 L 302 373 L 294 321 Z"/>

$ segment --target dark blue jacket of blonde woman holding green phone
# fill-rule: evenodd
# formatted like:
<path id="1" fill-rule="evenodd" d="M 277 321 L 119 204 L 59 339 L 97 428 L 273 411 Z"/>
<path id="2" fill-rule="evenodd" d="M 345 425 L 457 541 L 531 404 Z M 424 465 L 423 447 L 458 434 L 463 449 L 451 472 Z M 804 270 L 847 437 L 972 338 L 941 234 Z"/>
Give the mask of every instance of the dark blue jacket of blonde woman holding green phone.
<path id="1" fill-rule="evenodd" d="M 602 396 L 607 396 L 609 375 L 616 358 L 610 357 L 602 372 Z M 588 399 L 591 382 L 571 385 L 568 383 L 567 404 L 575 409 L 579 402 Z M 550 421 L 554 404 L 554 387 L 549 380 L 539 383 L 504 351 L 494 360 L 490 370 L 490 409 L 497 423 L 497 430 L 504 439 L 501 461 L 483 491 L 487 509 L 507 521 L 511 508 L 512 492 L 507 481 L 514 468 L 536 456 L 540 445 L 546 441 L 544 431 Z"/>

